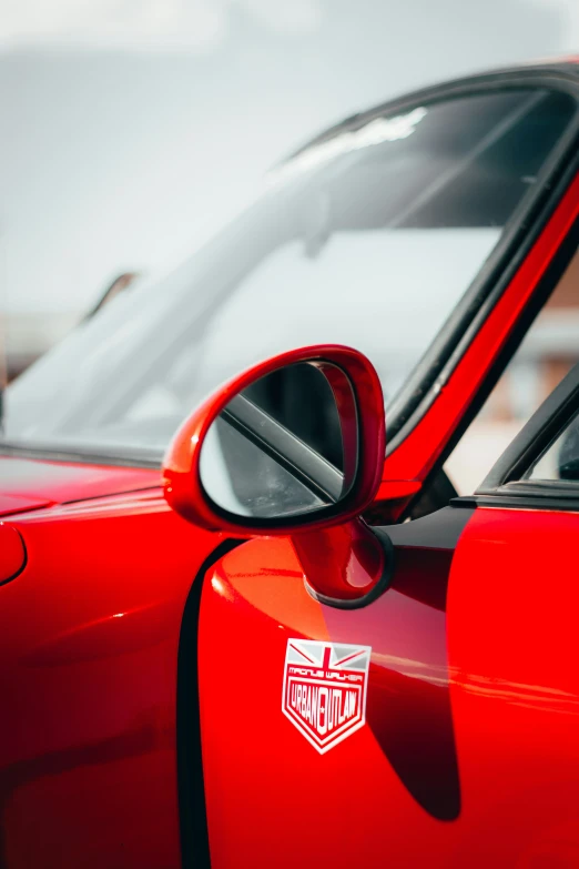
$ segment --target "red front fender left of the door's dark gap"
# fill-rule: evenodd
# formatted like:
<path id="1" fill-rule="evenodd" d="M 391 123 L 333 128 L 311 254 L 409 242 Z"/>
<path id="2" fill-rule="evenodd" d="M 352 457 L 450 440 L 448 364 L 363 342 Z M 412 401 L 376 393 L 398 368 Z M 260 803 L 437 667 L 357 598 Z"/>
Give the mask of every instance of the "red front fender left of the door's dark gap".
<path id="1" fill-rule="evenodd" d="M 180 869 L 179 636 L 217 538 L 160 493 L 10 524 L 28 563 L 0 588 L 0 865 Z"/>

